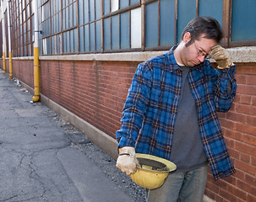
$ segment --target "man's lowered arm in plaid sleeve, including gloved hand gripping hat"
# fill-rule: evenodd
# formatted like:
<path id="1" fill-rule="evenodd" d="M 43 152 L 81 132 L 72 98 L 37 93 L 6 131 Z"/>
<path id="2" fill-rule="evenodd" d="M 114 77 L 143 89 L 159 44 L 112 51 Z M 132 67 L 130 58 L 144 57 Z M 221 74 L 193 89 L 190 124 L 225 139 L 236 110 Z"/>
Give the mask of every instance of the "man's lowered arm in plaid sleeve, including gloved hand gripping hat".
<path id="1" fill-rule="evenodd" d="M 123 107 L 122 126 L 117 130 L 119 155 L 116 167 L 127 175 L 135 173 L 136 167 L 139 167 L 134 146 L 150 100 L 152 77 L 149 66 L 139 64 Z"/>

